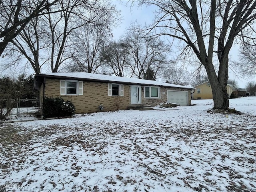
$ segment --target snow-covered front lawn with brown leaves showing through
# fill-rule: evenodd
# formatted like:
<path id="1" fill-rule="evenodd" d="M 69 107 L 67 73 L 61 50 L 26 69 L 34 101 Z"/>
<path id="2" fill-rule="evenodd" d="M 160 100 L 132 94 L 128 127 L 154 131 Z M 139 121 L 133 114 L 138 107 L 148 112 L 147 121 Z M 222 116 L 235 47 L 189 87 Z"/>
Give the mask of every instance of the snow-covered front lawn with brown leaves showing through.
<path id="1" fill-rule="evenodd" d="M 2 123 L 1 192 L 256 191 L 256 97 L 192 104 Z"/>

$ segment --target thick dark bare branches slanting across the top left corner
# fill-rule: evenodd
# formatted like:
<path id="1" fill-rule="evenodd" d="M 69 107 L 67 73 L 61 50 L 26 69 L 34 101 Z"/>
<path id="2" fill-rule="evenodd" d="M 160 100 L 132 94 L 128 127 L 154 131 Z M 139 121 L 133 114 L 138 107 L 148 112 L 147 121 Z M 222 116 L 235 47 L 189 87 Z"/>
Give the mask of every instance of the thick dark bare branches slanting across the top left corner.
<path id="1" fill-rule="evenodd" d="M 7 44 L 11 42 L 33 18 L 43 13 L 44 10 L 49 10 L 50 6 L 56 4 L 58 0 L 49 3 L 48 0 L 43 0 L 37 4 L 32 4 L 30 1 L 1 1 L 1 55 L 4 52 Z M 36 6 L 35 6 L 36 5 Z M 24 14 L 24 9 L 30 8 L 30 12 Z"/>

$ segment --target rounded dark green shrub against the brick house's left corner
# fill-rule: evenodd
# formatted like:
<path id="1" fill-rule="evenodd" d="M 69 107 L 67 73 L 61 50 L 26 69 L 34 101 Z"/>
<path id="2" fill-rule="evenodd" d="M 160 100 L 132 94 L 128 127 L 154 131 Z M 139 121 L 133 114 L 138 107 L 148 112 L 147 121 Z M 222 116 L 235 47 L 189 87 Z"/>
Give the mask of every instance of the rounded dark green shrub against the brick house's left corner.
<path id="1" fill-rule="evenodd" d="M 56 98 L 44 98 L 43 114 L 44 118 L 49 117 L 65 117 L 75 114 L 75 106 L 71 101 L 64 101 L 64 99 Z"/>

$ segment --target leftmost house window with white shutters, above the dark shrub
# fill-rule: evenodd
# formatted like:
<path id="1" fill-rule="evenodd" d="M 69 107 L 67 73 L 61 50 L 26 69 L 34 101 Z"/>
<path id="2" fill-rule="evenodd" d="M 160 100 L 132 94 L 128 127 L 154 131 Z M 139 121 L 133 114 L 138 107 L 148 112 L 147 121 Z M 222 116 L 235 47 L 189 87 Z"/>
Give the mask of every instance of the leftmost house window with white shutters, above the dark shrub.
<path id="1" fill-rule="evenodd" d="M 60 80 L 61 95 L 83 95 L 83 82 L 76 80 Z"/>

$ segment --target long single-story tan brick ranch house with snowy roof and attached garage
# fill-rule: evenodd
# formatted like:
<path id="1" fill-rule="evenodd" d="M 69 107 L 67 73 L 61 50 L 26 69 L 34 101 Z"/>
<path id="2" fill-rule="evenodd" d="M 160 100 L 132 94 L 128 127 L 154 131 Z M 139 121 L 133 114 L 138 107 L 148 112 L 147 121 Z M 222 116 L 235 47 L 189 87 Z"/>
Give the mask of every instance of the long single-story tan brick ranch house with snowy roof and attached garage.
<path id="1" fill-rule="evenodd" d="M 40 114 L 44 97 L 61 97 L 76 106 L 76 113 L 125 110 L 131 105 L 156 106 L 161 102 L 173 102 L 181 106 L 191 105 L 188 86 L 162 83 L 152 80 L 124 78 L 85 72 L 44 73 L 34 77 L 34 88 L 40 90 Z"/>

